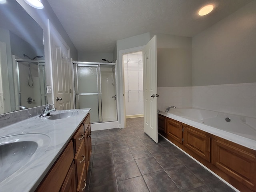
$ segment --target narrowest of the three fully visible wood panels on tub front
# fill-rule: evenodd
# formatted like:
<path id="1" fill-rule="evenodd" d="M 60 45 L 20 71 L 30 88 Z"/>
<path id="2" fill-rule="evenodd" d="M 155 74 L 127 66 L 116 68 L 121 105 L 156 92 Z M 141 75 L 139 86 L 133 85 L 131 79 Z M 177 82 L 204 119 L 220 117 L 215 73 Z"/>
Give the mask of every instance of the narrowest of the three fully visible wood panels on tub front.
<path id="1" fill-rule="evenodd" d="M 167 138 L 170 141 L 175 140 L 182 144 L 182 124 L 179 124 L 177 121 L 170 118 L 166 118 L 166 127 Z"/>

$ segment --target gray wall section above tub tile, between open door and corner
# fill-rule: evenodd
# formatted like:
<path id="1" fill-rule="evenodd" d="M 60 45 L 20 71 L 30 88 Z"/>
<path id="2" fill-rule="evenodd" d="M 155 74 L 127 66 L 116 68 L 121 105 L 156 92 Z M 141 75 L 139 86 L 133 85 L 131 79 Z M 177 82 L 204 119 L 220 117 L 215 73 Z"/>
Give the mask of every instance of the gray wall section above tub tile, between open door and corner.
<path id="1" fill-rule="evenodd" d="M 157 36 L 157 86 L 192 86 L 192 38 L 154 35 Z"/>

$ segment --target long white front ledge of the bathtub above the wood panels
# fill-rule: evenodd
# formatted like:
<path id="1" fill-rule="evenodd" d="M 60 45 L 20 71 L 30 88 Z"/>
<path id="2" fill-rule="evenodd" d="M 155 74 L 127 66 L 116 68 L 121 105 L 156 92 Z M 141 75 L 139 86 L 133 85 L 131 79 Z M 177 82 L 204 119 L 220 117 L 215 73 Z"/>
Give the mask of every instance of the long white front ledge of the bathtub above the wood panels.
<path id="1" fill-rule="evenodd" d="M 256 141 L 255 140 L 251 140 L 251 139 L 248 139 L 248 138 L 236 135 L 236 134 L 232 134 L 230 132 L 226 132 L 224 130 L 220 130 L 220 129 L 202 124 L 200 122 L 192 121 L 192 120 L 189 120 L 187 118 L 176 116 L 174 114 L 170 114 L 170 113 L 167 113 L 167 112 L 160 111 L 160 112 L 158 112 L 158 114 L 161 114 L 163 116 L 172 118 L 174 120 L 185 123 L 187 125 L 193 126 L 195 128 L 198 128 L 198 129 L 203 130 L 205 132 L 208 132 L 210 134 L 219 136 L 221 138 L 232 141 L 234 143 L 240 144 L 240 145 L 245 146 L 247 148 L 256 150 Z"/>

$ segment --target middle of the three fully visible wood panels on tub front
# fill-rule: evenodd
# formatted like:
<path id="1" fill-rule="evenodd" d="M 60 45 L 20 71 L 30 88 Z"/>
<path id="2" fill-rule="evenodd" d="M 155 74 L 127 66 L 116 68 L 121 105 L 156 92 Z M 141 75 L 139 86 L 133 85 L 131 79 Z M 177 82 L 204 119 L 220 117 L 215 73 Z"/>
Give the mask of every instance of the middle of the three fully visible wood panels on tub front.
<path id="1" fill-rule="evenodd" d="M 210 162 L 210 136 L 198 129 L 184 126 L 183 145 Z"/>

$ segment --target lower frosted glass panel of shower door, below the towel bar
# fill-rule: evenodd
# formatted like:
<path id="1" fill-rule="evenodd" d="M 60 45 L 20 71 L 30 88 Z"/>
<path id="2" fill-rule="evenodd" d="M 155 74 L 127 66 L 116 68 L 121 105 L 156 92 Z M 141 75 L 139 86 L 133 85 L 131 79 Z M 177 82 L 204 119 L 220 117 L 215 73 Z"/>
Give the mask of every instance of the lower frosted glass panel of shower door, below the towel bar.
<path id="1" fill-rule="evenodd" d="M 91 122 L 99 122 L 98 95 L 80 95 L 79 108 L 91 108 Z M 101 114 L 100 114 L 101 116 Z"/>

